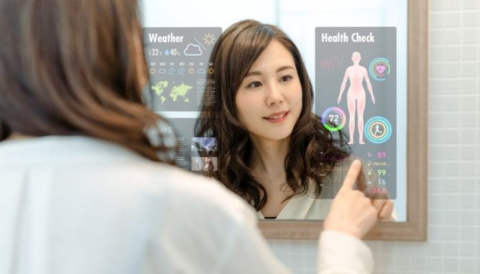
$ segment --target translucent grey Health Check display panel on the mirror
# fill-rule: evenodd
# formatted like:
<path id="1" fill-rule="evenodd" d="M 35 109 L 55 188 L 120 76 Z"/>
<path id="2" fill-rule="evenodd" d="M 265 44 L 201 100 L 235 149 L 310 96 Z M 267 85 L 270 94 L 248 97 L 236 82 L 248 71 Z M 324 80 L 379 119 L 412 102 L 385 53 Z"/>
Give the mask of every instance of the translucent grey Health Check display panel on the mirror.
<path id="1" fill-rule="evenodd" d="M 396 199 L 396 28 L 315 28 L 315 114 L 364 160 L 367 194 Z"/>

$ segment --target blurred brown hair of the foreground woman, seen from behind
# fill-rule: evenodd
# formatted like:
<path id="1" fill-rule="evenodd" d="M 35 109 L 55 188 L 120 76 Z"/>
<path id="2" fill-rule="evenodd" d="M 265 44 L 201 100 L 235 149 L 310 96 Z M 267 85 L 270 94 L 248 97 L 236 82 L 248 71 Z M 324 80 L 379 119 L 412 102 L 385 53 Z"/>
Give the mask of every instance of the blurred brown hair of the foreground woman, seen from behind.
<path id="1" fill-rule="evenodd" d="M 171 161 L 156 130 L 165 121 L 141 102 L 135 0 L 3 0 L 0 33 L 0 140 L 86 135 Z"/>

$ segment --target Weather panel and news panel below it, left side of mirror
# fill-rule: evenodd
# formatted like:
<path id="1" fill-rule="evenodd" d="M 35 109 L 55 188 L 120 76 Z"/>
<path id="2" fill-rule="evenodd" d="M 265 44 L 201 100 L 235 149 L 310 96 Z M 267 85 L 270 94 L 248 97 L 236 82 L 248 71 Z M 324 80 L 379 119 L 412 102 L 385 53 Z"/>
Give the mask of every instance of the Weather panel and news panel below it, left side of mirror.
<path id="1" fill-rule="evenodd" d="M 175 164 L 187 171 L 202 173 L 217 169 L 215 138 L 194 136 L 195 121 L 204 92 L 213 91 L 207 75 L 214 73 L 208 63 L 221 27 L 145 27 L 143 42 L 149 72 L 146 105 L 163 116 L 169 126 L 162 132 L 175 133 L 178 155 Z M 208 95 L 207 95 L 208 98 Z"/>

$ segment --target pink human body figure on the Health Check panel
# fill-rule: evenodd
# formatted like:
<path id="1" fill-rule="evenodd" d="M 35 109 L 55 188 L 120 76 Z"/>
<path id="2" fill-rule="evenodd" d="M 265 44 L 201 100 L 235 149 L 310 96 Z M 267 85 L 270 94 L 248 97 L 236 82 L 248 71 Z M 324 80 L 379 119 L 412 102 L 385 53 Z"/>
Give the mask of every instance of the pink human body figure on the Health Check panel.
<path id="1" fill-rule="evenodd" d="M 341 82 L 340 94 L 338 95 L 337 103 L 341 101 L 341 95 L 344 93 L 347 79 L 350 79 L 350 87 L 347 92 L 348 105 L 348 134 L 350 140 L 348 144 L 354 143 L 355 135 L 355 110 L 357 110 L 357 128 L 359 129 L 359 144 L 363 145 L 363 112 L 365 112 L 365 89 L 363 89 L 363 79 L 367 82 L 368 92 L 372 97 L 372 103 L 375 103 L 373 95 L 372 84 L 368 77 L 368 71 L 364 66 L 360 66 L 361 55 L 358 51 L 352 53 L 353 65 L 349 66 L 345 71 L 344 80 Z"/>

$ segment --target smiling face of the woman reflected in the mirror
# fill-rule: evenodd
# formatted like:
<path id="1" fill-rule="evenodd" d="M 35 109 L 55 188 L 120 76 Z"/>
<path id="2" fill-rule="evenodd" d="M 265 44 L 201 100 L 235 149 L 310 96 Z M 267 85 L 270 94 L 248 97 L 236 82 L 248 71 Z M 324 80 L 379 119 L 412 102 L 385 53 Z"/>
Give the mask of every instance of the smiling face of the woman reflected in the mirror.
<path id="1" fill-rule="evenodd" d="M 302 110 L 302 85 L 291 53 L 272 40 L 252 65 L 235 97 L 238 119 L 252 138 L 290 136 Z"/>

